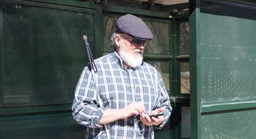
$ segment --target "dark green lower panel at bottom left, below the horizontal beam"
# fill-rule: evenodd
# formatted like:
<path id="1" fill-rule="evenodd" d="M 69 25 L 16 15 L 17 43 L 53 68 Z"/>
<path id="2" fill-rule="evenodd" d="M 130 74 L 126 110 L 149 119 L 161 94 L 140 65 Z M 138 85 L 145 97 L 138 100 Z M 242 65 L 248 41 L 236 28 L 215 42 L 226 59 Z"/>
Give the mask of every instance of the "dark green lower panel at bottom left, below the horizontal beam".
<path id="1" fill-rule="evenodd" d="M 0 138 L 4 139 L 84 138 L 84 133 L 72 116 L 0 121 Z"/>

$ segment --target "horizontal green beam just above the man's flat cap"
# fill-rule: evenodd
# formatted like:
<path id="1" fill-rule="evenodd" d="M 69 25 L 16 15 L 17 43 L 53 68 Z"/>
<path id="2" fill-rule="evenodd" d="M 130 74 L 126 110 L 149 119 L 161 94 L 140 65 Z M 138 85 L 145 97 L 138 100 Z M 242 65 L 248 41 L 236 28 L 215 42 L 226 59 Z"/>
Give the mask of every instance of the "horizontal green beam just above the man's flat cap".
<path id="1" fill-rule="evenodd" d="M 115 13 L 131 13 L 131 14 L 139 14 L 139 15 L 146 15 L 150 17 L 163 17 L 168 19 L 169 14 L 168 13 L 163 13 L 163 12 L 155 12 L 155 11 L 150 11 L 150 10 L 141 10 L 138 8 L 125 8 L 125 7 L 120 7 L 120 6 L 104 6 L 103 7 L 104 11 L 107 12 L 115 12 Z"/>

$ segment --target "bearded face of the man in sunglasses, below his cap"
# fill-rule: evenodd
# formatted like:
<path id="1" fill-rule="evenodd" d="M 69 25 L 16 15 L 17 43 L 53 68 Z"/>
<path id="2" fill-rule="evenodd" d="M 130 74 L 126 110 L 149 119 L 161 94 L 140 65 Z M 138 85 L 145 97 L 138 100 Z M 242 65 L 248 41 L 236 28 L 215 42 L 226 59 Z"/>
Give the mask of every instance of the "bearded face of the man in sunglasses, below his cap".
<path id="1" fill-rule="evenodd" d="M 120 47 L 119 55 L 130 67 L 138 67 L 143 61 L 143 52 L 145 49 L 145 40 L 136 40 L 127 34 L 119 36 Z"/>

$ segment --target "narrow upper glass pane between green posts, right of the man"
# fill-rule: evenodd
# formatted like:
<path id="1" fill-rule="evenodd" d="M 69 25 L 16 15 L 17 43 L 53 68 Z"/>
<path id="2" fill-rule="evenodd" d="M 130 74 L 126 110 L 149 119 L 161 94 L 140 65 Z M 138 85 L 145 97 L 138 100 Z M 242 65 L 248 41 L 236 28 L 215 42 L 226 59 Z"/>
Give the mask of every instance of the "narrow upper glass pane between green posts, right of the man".
<path id="1" fill-rule="evenodd" d="M 179 24 L 179 54 L 189 54 L 189 22 Z"/>

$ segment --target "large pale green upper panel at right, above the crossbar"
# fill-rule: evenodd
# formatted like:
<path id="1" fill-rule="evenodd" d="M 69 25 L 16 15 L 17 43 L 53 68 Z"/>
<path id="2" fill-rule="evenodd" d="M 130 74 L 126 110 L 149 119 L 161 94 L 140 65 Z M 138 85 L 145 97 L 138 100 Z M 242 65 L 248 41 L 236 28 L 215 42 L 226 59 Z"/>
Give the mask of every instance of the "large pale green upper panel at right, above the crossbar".
<path id="1" fill-rule="evenodd" d="M 256 21 L 200 17 L 201 103 L 256 100 Z"/>

